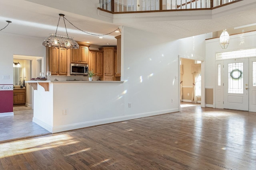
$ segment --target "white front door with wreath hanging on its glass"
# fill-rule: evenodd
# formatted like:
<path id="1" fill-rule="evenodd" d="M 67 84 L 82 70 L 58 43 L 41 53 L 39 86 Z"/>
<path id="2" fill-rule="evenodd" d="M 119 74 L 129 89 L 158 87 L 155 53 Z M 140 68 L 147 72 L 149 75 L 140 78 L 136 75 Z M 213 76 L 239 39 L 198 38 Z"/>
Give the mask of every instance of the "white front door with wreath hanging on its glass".
<path id="1" fill-rule="evenodd" d="M 224 61 L 224 108 L 249 110 L 249 59 Z"/>

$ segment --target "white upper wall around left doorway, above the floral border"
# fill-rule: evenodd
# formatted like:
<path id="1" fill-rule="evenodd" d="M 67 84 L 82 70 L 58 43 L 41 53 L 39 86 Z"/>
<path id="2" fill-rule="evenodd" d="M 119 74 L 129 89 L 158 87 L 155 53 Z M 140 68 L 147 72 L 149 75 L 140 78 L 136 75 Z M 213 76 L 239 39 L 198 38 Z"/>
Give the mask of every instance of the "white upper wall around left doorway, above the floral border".
<path id="1" fill-rule="evenodd" d="M 13 84 L 13 55 L 44 57 L 43 39 L 0 33 L 0 84 Z M 2 79 L 4 74 L 10 79 Z"/>

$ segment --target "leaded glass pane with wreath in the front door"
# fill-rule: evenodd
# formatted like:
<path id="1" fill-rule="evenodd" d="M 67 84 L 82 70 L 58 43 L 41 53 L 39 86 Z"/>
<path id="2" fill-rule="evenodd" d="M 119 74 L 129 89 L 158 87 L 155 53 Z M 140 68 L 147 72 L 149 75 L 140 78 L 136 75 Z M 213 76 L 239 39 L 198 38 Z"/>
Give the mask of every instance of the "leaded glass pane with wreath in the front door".
<path id="1" fill-rule="evenodd" d="M 228 93 L 243 94 L 243 63 L 228 64 Z"/>

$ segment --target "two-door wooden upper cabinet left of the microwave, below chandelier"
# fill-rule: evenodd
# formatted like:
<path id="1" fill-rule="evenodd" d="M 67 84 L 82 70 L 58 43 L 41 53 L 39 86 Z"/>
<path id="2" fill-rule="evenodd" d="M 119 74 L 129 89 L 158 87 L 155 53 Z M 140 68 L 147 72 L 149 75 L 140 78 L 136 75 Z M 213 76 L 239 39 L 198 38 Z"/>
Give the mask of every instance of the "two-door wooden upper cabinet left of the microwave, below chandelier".
<path id="1" fill-rule="evenodd" d="M 52 75 L 67 75 L 67 49 L 46 47 L 46 55 Z"/>

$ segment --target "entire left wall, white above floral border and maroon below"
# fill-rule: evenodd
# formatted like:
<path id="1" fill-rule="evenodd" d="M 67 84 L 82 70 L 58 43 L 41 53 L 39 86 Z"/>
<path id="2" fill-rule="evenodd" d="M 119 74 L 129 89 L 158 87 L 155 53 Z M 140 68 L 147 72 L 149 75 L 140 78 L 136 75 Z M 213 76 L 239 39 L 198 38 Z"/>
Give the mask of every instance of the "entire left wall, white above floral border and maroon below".
<path id="1" fill-rule="evenodd" d="M 44 57 L 43 39 L 0 33 L 0 116 L 13 114 L 13 55 Z M 3 79 L 8 75 L 9 79 Z M 3 90 L 4 89 L 4 90 Z"/>

